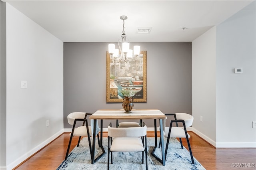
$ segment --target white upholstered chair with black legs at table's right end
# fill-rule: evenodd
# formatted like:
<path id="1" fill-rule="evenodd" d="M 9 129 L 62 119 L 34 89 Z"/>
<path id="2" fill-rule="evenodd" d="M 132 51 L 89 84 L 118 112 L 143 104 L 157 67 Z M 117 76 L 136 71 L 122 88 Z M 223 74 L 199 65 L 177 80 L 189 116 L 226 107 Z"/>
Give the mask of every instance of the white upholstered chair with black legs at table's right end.
<path id="1" fill-rule="evenodd" d="M 186 138 L 188 142 L 188 148 L 190 152 L 190 157 L 192 164 L 194 164 L 194 158 L 192 155 L 192 150 L 190 147 L 189 139 L 190 135 L 187 132 L 187 127 L 191 127 L 193 124 L 194 117 L 192 115 L 189 115 L 187 113 L 175 113 L 175 114 L 165 114 L 166 116 L 174 116 L 174 120 L 170 121 L 170 127 L 164 127 L 164 137 L 167 138 L 166 148 L 165 148 L 165 158 L 167 155 L 168 145 L 170 138 L 179 138 L 180 139 L 180 145 L 183 149 L 182 140 L 181 138 Z M 172 127 L 172 123 L 176 124 L 176 127 Z M 182 127 L 178 127 L 178 123 L 182 123 Z M 166 123 L 166 125 L 168 125 Z M 160 147 L 161 141 L 159 142 Z"/>

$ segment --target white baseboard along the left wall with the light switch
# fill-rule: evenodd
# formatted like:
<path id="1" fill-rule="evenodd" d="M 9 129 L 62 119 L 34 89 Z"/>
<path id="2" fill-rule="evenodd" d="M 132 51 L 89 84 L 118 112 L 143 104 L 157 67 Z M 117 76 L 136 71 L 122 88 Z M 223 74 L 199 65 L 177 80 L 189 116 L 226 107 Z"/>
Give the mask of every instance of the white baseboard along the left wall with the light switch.
<path id="1" fill-rule="evenodd" d="M 52 135 L 50 138 L 45 140 L 44 142 L 40 143 L 38 146 L 34 147 L 32 150 L 26 152 L 20 158 L 16 159 L 14 162 L 10 163 L 6 166 L 6 170 L 12 170 L 15 168 L 18 164 L 32 156 L 34 153 L 38 152 L 38 150 L 42 149 L 44 146 L 46 146 L 48 143 L 52 142 L 52 140 L 56 139 L 58 136 L 60 136 L 63 133 L 63 129 L 58 131 L 56 134 Z M 2 169 L 2 167 L 1 167 Z"/>

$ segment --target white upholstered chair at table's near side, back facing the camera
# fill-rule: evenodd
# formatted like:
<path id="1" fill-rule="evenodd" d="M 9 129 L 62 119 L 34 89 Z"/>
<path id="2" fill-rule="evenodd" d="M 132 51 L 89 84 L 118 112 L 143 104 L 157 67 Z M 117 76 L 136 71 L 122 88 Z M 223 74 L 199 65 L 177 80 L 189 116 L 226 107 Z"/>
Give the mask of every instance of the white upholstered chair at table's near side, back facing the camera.
<path id="1" fill-rule="evenodd" d="M 112 152 L 142 152 L 142 164 L 144 152 L 146 157 L 146 170 L 148 169 L 147 157 L 147 126 L 143 127 L 111 127 L 108 126 L 108 169 L 111 152 L 111 164 L 113 164 Z M 142 138 L 140 138 L 142 137 Z M 145 140 L 144 140 L 145 139 Z M 144 147 L 145 144 L 145 147 Z"/>

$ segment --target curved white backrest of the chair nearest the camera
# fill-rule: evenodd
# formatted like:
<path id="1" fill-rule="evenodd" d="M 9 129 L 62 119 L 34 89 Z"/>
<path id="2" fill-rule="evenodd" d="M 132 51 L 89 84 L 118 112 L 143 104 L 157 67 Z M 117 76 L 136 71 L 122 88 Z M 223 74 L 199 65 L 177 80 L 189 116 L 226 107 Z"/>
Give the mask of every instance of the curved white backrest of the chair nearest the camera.
<path id="1" fill-rule="evenodd" d="M 108 136 L 110 137 L 141 137 L 146 136 L 147 126 L 115 128 L 108 126 Z"/>

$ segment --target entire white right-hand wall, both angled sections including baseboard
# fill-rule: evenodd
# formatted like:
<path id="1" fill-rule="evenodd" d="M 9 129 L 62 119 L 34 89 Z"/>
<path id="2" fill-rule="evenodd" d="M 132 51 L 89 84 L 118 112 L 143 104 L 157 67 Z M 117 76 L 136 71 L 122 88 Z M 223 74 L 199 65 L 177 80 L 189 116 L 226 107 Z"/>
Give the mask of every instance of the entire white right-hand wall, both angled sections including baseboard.
<path id="1" fill-rule="evenodd" d="M 256 147 L 255 6 L 192 42 L 193 128 L 216 148 Z"/>

